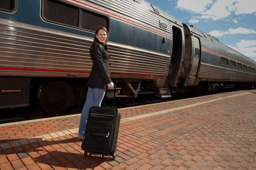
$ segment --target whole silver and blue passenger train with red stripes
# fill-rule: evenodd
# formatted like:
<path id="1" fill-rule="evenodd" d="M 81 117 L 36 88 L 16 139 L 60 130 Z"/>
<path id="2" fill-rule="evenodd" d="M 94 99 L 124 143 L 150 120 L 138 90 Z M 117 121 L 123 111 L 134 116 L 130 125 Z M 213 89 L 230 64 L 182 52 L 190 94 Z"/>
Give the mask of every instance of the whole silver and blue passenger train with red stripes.
<path id="1" fill-rule="evenodd" d="M 256 82 L 255 61 L 143 0 L 1 0 L 0 108 L 55 114 L 83 105 L 98 26 L 110 32 L 120 102 Z"/>

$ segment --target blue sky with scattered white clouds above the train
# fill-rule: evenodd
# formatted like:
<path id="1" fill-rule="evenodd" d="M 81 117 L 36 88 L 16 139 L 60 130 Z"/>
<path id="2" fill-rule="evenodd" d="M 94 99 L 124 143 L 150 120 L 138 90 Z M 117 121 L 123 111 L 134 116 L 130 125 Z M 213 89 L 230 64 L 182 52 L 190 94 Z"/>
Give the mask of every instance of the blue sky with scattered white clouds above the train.
<path id="1" fill-rule="evenodd" d="M 145 0 L 256 60 L 256 0 Z"/>

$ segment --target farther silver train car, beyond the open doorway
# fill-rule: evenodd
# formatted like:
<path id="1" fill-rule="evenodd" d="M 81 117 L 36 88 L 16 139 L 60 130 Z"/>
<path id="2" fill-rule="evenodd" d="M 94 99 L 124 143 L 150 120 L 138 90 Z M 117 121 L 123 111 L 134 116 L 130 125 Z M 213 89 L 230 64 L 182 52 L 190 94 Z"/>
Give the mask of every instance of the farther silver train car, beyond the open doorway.
<path id="1" fill-rule="evenodd" d="M 235 84 L 253 88 L 256 82 L 256 62 L 219 42 L 195 26 L 183 24 L 185 31 L 184 86 L 205 90 L 216 84 Z M 209 87 L 209 88 L 208 88 Z"/>

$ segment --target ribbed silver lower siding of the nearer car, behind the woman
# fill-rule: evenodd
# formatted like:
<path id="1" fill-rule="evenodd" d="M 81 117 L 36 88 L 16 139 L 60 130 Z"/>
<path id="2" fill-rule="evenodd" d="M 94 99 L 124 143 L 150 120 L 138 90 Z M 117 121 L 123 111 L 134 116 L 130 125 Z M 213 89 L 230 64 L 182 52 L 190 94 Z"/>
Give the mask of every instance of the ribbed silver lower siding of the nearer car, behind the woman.
<path id="1" fill-rule="evenodd" d="M 81 39 L 76 35 L 67 37 L 38 30 L 38 27 L 27 29 L 0 25 L 0 67 L 90 72 L 92 62 L 89 49 L 92 38 Z M 168 55 L 114 43 L 110 43 L 109 53 L 113 73 L 165 76 L 168 72 Z M 38 75 L 35 71 L 30 74 Z M 59 74 L 67 76 L 67 73 Z M 87 77 L 88 74 L 83 76 Z"/>

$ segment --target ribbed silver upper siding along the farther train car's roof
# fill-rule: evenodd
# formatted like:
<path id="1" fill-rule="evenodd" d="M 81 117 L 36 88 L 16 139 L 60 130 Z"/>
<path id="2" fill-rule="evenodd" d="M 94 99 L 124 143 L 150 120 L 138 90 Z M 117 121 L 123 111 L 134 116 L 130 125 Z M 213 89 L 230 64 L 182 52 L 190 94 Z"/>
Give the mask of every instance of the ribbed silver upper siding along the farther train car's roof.
<path id="1" fill-rule="evenodd" d="M 216 51 L 216 52 L 218 52 L 224 56 L 230 57 L 232 59 L 236 59 L 240 62 L 244 62 L 245 64 L 256 68 L 256 62 L 253 61 L 252 59 L 250 59 L 249 57 L 246 57 L 245 55 L 239 53 L 238 51 L 235 51 L 234 49 L 228 47 L 227 45 L 224 45 L 223 43 L 219 42 L 215 37 L 213 37 L 214 41 L 212 41 L 209 38 L 209 34 L 200 30 L 199 28 L 197 28 L 195 26 L 193 26 L 193 27 L 189 26 L 189 28 L 192 32 L 193 32 L 193 30 L 196 30 L 195 33 L 197 33 L 201 36 L 201 44 L 203 47 L 208 48 L 212 51 Z M 207 38 L 204 37 L 202 32 L 204 32 L 204 34 L 207 36 Z"/>

